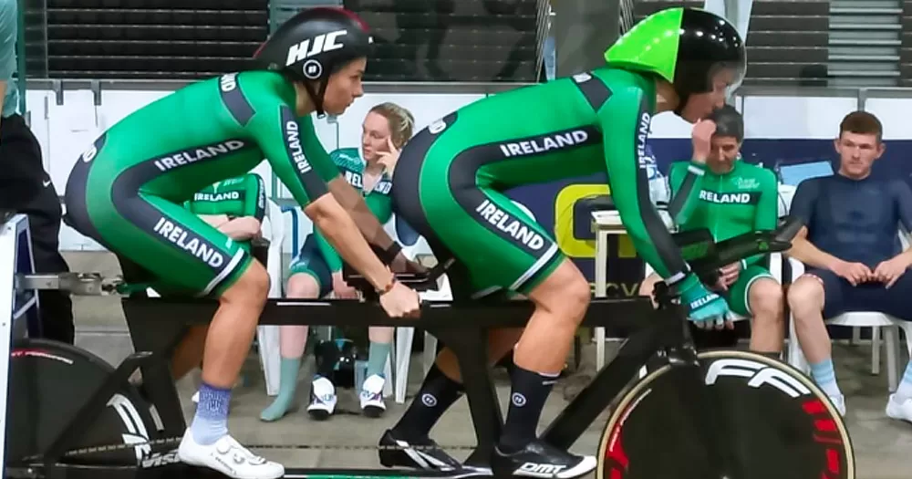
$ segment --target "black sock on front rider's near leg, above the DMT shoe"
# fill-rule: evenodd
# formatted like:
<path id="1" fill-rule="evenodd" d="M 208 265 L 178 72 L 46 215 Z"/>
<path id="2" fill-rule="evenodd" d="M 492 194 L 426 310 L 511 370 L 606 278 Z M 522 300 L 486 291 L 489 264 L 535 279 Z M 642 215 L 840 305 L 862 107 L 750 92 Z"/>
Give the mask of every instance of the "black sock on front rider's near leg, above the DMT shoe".
<path id="1" fill-rule="evenodd" d="M 503 425 L 499 447 L 504 453 L 523 449 L 535 438 L 538 420 L 542 417 L 544 402 L 557 382 L 557 374 L 546 375 L 519 366 L 513 367 L 510 375 L 513 388 L 510 391 L 510 409 Z"/>

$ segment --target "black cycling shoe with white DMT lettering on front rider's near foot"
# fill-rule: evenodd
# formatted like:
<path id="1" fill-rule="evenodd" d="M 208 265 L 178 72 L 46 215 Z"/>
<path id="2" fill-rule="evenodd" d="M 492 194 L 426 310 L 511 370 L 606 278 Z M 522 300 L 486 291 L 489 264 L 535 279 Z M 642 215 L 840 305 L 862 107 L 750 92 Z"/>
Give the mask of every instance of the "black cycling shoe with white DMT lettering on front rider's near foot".
<path id="1" fill-rule="evenodd" d="M 495 475 L 570 479 L 591 473 L 596 468 L 596 458 L 561 451 L 536 439 L 514 453 L 503 453 L 500 446 L 495 447 L 491 467 Z"/>

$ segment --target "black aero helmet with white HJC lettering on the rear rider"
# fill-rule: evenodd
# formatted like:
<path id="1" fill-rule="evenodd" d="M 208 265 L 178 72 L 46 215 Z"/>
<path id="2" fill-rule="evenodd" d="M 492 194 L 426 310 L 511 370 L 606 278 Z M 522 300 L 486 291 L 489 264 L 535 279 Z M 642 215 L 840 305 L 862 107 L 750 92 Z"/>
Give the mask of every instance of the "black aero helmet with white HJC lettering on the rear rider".
<path id="1" fill-rule="evenodd" d="M 254 60 L 261 68 L 304 80 L 322 115 L 326 80 L 351 60 L 368 57 L 372 43 L 368 25 L 354 13 L 321 6 L 289 18 L 256 50 Z M 319 84 L 319 91 L 312 82 Z"/>

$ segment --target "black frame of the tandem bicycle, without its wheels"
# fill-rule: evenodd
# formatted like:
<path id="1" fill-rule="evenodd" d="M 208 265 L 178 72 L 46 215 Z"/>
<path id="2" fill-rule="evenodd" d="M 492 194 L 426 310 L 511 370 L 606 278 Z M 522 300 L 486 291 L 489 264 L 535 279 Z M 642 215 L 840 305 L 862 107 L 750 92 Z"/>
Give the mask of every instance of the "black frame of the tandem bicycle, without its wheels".
<path id="1" fill-rule="evenodd" d="M 764 241 L 762 248 L 771 251 L 772 246 L 775 246 L 781 251 L 786 244 L 776 245 L 775 242 L 779 241 L 780 236 L 787 236 L 790 228 L 795 227 L 794 224 L 789 224 L 787 227 L 783 226 L 782 231 L 777 230 L 777 234 L 770 238 L 764 236 L 761 238 Z M 751 238 L 731 240 L 731 245 L 746 246 L 751 241 Z M 741 248 L 743 251 L 739 253 L 738 248 L 733 246 L 726 250 L 731 256 L 752 253 L 745 248 Z M 723 264 L 728 259 L 716 255 L 712 261 Z M 714 267 L 712 261 L 705 261 L 704 269 L 711 271 Z M 679 392 L 693 400 L 687 402 L 695 408 L 692 414 L 700 422 L 701 435 L 710 442 L 715 441 L 712 418 L 704 421 L 711 414 L 707 408 L 700 408 L 701 404 L 705 404 L 700 401 L 705 399 L 705 396 L 700 395 L 706 388 L 703 387 L 700 366 L 689 338 L 686 312 L 683 307 L 674 304 L 664 284 L 659 284 L 658 292 L 658 308 L 653 308 L 646 297 L 595 299 L 591 302 L 583 324 L 608 328 L 613 335 L 626 336 L 628 340 L 619 350 L 617 357 L 606 368 L 599 370 L 594 380 L 547 426 L 543 434 L 544 441 L 564 449 L 572 446 L 596 416 L 620 398 L 628 384 L 635 382 L 637 371 L 647 364 L 648 359 L 661 351 L 668 353 L 665 359 L 672 367 L 686 368 L 695 373 L 692 380 L 687 377 L 685 382 L 679 385 Z M 83 417 L 74 418 L 73 423 L 68 424 L 60 437 L 53 442 L 43 458 L 48 475 L 60 472 L 57 466 L 52 464 L 57 463 L 68 445 L 76 443 L 78 435 L 84 429 L 79 427 L 81 422 L 90 421 L 92 411 L 99 411 L 103 407 L 105 398 L 114 390 L 111 388 L 122 384 L 137 367 L 142 370 L 145 389 L 149 392 L 151 404 L 161 418 L 161 434 L 176 438 L 181 437 L 186 430 L 181 403 L 169 370 L 171 351 L 181 340 L 185 328 L 194 324 L 207 324 L 212 319 L 218 307 L 217 302 L 210 299 L 125 297 L 122 305 L 137 353 L 119 365 L 110 379 L 96 391 L 94 397 L 83 405 L 79 414 Z M 302 311 L 301 307 L 307 309 Z M 500 436 L 503 414 L 489 372 L 492 361 L 483 352 L 479 352 L 486 351 L 489 329 L 523 327 L 532 312 L 533 304 L 529 301 L 439 302 L 424 305 L 421 318 L 409 320 L 389 318 L 376 302 L 270 299 L 261 315 L 260 324 L 405 326 L 428 330 L 451 348 L 459 360 L 477 439 L 475 450 L 465 463 L 487 466 L 490 464 L 494 444 Z M 79 466 L 73 469 L 78 470 Z M 129 474 L 122 466 L 104 465 L 90 467 L 89 472 L 107 472 L 118 477 L 118 474 Z M 472 475 L 460 472 L 429 474 L 425 471 L 409 474 L 401 470 L 388 472 L 381 469 L 289 469 L 286 477 L 307 474 L 400 477 Z"/>

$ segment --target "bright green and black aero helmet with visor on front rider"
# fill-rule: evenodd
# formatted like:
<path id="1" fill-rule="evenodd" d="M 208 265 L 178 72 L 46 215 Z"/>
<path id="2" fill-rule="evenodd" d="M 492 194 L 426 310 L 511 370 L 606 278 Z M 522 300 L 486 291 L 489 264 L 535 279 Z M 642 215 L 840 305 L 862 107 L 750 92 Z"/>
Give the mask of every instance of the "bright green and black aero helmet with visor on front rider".
<path id="1" fill-rule="evenodd" d="M 744 41 L 724 18 L 699 8 L 674 7 L 647 16 L 605 52 L 610 66 L 646 71 L 674 86 L 684 108 L 690 95 L 712 91 L 712 77 L 731 70 L 731 88 L 747 68 Z"/>

